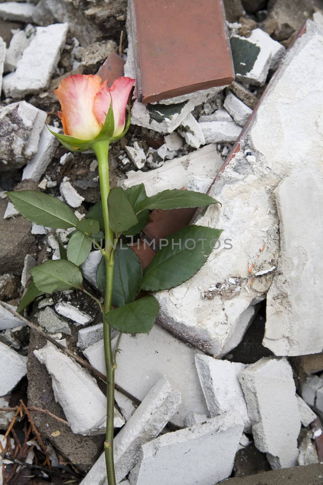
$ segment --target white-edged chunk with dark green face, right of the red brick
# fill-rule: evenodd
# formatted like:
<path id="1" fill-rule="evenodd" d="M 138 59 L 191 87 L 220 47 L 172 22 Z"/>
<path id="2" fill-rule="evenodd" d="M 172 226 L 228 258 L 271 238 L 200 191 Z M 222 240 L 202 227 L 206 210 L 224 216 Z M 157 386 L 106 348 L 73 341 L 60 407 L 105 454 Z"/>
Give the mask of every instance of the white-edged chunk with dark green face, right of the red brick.
<path id="1" fill-rule="evenodd" d="M 230 43 L 235 79 L 254 86 L 263 86 L 270 66 L 270 50 L 256 41 L 236 34 L 231 36 Z"/>

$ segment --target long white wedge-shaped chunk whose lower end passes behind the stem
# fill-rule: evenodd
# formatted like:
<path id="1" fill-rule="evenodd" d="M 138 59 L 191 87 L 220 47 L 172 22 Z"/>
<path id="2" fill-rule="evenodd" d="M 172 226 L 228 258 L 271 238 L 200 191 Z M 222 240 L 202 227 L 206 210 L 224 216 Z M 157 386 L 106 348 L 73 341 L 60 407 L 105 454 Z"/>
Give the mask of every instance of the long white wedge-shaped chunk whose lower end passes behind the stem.
<path id="1" fill-rule="evenodd" d="M 49 342 L 42 349 L 34 350 L 34 355 L 46 365 L 52 378 L 55 400 L 61 404 L 73 433 L 104 433 L 106 396 L 94 377 Z M 116 425 L 122 426 L 124 420 L 116 409 L 115 416 Z"/>

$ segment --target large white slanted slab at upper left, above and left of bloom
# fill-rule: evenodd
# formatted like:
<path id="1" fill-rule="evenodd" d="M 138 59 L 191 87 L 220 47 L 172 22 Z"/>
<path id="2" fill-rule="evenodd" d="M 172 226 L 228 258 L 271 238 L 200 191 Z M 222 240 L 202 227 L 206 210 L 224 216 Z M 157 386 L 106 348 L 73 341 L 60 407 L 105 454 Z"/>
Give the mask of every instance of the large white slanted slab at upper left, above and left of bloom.
<path id="1" fill-rule="evenodd" d="M 3 78 L 7 97 L 24 97 L 46 89 L 59 62 L 67 31 L 67 23 L 36 28 L 36 34 L 18 61 L 15 73 Z"/>

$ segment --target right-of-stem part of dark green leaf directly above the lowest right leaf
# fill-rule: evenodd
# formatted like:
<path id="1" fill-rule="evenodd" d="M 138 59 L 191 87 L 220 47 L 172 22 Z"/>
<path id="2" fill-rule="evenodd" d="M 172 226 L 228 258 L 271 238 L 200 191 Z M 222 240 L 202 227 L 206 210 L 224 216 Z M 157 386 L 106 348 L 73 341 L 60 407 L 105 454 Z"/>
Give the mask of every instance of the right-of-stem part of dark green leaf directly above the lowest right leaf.
<path id="1" fill-rule="evenodd" d="M 118 245 L 114 253 L 112 305 L 122 307 L 132 302 L 138 293 L 142 266 L 129 246 Z"/>

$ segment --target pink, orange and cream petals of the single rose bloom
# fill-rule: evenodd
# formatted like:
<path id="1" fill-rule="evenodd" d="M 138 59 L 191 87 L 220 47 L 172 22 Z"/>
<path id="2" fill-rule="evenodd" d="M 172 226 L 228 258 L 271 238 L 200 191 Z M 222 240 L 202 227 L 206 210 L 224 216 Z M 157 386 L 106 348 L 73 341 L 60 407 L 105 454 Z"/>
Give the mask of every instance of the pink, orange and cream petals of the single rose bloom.
<path id="1" fill-rule="evenodd" d="M 81 140 L 93 140 L 101 131 L 112 98 L 114 116 L 113 136 L 119 136 L 124 129 L 125 109 L 135 80 L 121 77 L 112 86 L 108 80 L 101 83 L 100 76 L 75 74 L 63 79 L 54 93 L 58 97 L 62 111 L 65 135 Z"/>

